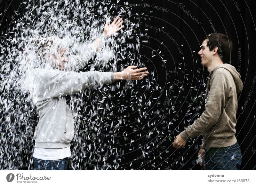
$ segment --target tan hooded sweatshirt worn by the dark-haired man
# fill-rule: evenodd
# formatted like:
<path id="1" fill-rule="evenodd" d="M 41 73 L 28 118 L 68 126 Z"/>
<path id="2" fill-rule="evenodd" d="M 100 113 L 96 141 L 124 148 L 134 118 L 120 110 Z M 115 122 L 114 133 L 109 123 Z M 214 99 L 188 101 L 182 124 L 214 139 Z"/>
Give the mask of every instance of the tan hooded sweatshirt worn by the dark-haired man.
<path id="1" fill-rule="evenodd" d="M 228 147 L 236 143 L 237 94 L 243 82 L 236 68 L 229 64 L 217 66 L 210 73 L 206 86 L 206 104 L 202 115 L 180 136 L 189 138 L 203 135 L 201 148 Z"/>

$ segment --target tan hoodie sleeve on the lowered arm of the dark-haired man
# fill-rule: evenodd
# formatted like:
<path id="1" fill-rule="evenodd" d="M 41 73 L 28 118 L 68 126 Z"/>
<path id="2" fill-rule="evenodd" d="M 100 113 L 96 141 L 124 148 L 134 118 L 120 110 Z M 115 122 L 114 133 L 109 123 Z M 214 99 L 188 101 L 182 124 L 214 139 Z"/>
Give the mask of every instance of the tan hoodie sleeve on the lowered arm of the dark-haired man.
<path id="1" fill-rule="evenodd" d="M 230 90 L 228 81 L 228 75 L 219 70 L 212 74 L 205 111 L 192 125 L 180 133 L 183 140 L 187 142 L 189 138 L 201 135 L 218 122 Z"/>

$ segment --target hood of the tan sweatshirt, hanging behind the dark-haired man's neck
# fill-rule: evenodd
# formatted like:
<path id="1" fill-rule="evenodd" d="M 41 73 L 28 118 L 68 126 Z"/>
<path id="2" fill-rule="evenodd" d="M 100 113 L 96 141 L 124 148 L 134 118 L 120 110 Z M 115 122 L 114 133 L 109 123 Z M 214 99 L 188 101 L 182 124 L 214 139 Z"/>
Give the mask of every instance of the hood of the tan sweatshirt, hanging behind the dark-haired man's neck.
<path id="1" fill-rule="evenodd" d="M 240 93 L 243 89 L 243 82 L 241 80 L 241 75 L 236 71 L 236 68 L 232 65 L 229 64 L 222 64 L 217 66 L 216 68 L 213 69 L 213 72 L 215 70 L 217 70 L 218 68 L 225 68 L 226 70 L 228 70 L 230 72 L 230 74 L 232 75 L 235 84 L 236 84 L 236 93 Z"/>

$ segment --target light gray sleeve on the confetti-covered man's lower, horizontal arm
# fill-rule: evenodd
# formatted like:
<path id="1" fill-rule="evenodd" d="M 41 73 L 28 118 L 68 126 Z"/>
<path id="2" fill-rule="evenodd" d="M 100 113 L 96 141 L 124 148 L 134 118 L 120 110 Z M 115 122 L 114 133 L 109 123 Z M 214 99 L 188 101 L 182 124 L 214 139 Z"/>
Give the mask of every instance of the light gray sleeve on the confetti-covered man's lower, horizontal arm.
<path id="1" fill-rule="evenodd" d="M 76 94 L 88 88 L 113 83 L 113 72 L 65 72 L 59 70 L 42 70 L 37 76 L 39 93 L 45 99 Z"/>

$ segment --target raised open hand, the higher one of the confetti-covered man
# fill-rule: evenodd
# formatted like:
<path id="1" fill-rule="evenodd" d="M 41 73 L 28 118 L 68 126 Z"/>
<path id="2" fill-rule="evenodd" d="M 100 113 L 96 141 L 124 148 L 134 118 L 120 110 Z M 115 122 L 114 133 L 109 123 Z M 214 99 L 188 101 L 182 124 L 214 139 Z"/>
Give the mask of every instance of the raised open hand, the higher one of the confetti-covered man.
<path id="1" fill-rule="evenodd" d="M 103 35 L 106 38 L 111 37 L 112 35 L 114 35 L 116 32 L 118 32 L 119 30 L 121 30 L 122 28 L 124 28 L 124 26 L 122 26 L 122 23 L 124 22 L 121 19 L 118 19 L 119 16 L 116 16 L 116 18 L 114 19 L 114 21 L 110 24 L 110 20 L 107 20 L 104 29 L 103 29 Z"/>

